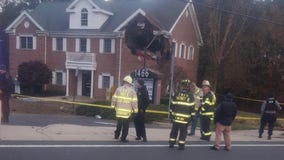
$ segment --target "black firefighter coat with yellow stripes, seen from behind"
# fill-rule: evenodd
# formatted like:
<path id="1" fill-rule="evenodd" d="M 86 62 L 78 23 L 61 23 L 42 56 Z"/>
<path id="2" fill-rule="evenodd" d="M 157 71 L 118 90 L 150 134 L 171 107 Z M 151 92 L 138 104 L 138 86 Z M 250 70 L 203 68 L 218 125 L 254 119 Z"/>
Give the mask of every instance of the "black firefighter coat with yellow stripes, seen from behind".
<path id="1" fill-rule="evenodd" d="M 187 91 L 181 91 L 171 101 L 172 120 L 176 123 L 187 124 L 194 113 L 194 97 Z"/>

